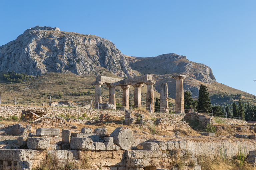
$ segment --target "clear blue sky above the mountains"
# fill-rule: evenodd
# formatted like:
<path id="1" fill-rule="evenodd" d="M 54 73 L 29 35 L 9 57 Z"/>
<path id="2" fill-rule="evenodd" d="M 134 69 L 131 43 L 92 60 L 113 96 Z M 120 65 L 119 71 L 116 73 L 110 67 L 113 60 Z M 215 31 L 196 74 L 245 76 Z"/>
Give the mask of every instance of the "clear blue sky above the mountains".
<path id="1" fill-rule="evenodd" d="M 186 55 L 212 68 L 217 82 L 256 95 L 256 1 L 1 1 L 0 45 L 26 29 L 108 39 L 123 54 Z"/>

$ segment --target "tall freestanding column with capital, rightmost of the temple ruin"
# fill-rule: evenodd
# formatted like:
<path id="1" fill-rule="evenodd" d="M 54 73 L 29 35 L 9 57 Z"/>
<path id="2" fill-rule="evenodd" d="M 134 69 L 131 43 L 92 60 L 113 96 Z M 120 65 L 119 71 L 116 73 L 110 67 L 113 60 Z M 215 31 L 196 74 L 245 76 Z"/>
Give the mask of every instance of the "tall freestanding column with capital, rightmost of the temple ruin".
<path id="1" fill-rule="evenodd" d="M 182 113 L 185 113 L 183 79 L 185 79 L 186 76 L 179 74 L 179 75 L 173 76 L 172 78 L 176 80 L 175 113 L 182 114 Z"/>

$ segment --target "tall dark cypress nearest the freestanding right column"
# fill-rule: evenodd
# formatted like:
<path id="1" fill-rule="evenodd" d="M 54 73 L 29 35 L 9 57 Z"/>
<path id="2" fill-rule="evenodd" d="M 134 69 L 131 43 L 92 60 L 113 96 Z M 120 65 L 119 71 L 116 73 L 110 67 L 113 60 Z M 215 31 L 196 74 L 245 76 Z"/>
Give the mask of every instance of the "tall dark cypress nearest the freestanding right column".
<path id="1" fill-rule="evenodd" d="M 211 99 L 206 85 L 201 84 L 198 95 L 198 112 L 209 113 L 211 107 Z"/>

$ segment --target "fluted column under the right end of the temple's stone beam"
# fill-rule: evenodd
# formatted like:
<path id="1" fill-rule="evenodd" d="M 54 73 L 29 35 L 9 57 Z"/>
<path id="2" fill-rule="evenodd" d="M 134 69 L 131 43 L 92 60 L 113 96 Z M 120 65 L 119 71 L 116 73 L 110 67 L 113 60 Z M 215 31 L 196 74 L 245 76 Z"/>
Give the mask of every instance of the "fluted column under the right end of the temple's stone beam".
<path id="1" fill-rule="evenodd" d="M 149 111 L 149 112 L 152 112 L 152 110 L 155 108 L 154 107 L 154 84 L 156 84 L 155 81 L 152 81 L 152 80 L 148 80 L 145 82 L 145 84 L 147 85 L 147 106 L 146 106 L 146 109 Z"/>

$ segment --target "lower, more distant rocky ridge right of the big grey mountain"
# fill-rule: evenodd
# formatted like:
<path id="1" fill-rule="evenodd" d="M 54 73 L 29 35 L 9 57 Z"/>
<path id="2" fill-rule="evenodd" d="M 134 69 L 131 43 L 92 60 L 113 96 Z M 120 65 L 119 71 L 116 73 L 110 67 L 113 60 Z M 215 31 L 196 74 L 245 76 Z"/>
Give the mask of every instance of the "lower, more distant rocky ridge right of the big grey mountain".
<path id="1" fill-rule="evenodd" d="M 146 69 L 151 74 L 184 74 L 189 78 L 209 84 L 216 81 L 209 66 L 189 61 L 186 56 L 175 53 L 145 58 L 130 57 L 129 63 L 139 72 Z"/>

